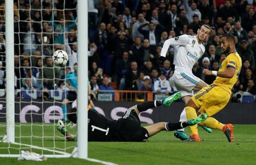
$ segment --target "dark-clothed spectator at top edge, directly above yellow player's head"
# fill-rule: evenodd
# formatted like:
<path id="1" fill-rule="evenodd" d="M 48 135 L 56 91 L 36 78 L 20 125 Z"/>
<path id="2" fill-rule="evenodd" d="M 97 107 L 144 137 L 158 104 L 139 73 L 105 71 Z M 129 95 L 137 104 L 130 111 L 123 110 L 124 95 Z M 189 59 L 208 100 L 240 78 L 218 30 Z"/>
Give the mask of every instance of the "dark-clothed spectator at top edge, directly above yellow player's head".
<path id="1" fill-rule="evenodd" d="M 235 17 L 236 21 L 239 20 L 239 16 L 236 9 L 231 5 L 231 1 L 226 0 L 224 7 L 221 7 L 217 13 L 218 17 L 222 17 L 223 20 L 227 20 L 228 17 Z"/>

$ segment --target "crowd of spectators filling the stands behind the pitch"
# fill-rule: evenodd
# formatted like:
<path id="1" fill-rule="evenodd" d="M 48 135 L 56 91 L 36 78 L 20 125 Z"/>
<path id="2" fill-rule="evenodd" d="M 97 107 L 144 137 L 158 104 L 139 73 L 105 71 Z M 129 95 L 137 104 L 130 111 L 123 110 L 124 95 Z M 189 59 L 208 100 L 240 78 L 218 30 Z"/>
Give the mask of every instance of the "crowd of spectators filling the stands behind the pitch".
<path id="1" fill-rule="evenodd" d="M 4 1 L 0 12 L 0 87 L 4 88 Z M 15 0 L 16 88 L 72 88 L 64 81 L 77 63 L 77 2 Z M 19 10 L 18 10 L 19 9 Z M 63 10 L 64 9 L 64 10 Z M 255 0 L 88 0 L 88 69 L 92 90 L 114 89 L 175 92 L 171 76 L 177 50 L 169 47 L 160 62 L 164 41 L 182 34 L 195 35 L 208 24 L 213 34 L 206 51 L 193 67 L 198 78 L 211 84 L 215 76 L 202 71 L 218 70 L 226 57 L 220 37 L 233 34 L 242 58 L 242 70 L 233 92 L 256 95 L 256 1 Z M 53 67 L 54 50 L 66 50 L 69 63 Z M 75 74 L 76 76 L 77 74 Z"/>

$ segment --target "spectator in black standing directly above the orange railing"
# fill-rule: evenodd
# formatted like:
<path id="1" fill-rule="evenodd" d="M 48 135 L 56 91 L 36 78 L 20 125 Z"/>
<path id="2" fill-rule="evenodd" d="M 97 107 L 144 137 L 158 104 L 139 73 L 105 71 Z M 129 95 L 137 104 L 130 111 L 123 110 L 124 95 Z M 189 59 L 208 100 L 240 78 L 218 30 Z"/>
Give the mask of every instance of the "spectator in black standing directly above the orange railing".
<path id="1" fill-rule="evenodd" d="M 135 79 L 139 78 L 139 70 L 137 62 L 131 62 L 130 63 L 130 70 L 127 71 L 125 76 L 125 88 L 126 90 L 132 90 L 134 89 L 132 82 L 134 82 Z"/>

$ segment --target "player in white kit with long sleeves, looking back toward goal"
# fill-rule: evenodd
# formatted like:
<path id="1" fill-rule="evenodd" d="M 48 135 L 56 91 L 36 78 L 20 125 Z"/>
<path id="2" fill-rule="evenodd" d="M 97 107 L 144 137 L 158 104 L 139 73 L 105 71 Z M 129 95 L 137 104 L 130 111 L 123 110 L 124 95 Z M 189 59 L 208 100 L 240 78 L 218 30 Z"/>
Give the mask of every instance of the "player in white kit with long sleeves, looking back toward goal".
<path id="1" fill-rule="evenodd" d="M 173 81 L 177 90 L 181 92 L 181 97 L 185 104 L 189 101 L 190 97 L 192 97 L 193 91 L 199 91 L 208 85 L 192 73 L 192 68 L 197 60 L 204 54 L 205 46 L 203 42 L 208 40 L 210 34 L 210 26 L 202 25 L 201 28 L 197 30 L 196 36 L 184 34 L 176 38 L 168 39 L 164 42 L 161 50 L 160 58 L 165 58 L 169 46 L 175 46 L 178 49 Z M 187 121 L 185 108 L 181 113 L 180 121 Z M 211 132 L 211 129 L 207 127 L 203 128 L 207 132 Z M 193 137 L 188 137 L 184 133 L 184 129 L 175 131 L 174 135 L 181 140 L 193 141 Z"/>

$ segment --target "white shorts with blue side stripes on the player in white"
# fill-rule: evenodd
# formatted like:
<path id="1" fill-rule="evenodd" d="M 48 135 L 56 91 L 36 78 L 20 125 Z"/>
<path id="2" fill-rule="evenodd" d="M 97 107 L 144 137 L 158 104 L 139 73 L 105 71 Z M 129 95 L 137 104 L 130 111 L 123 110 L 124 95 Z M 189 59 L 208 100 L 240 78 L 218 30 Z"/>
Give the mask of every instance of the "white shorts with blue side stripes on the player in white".
<path id="1" fill-rule="evenodd" d="M 174 71 L 174 86 L 181 92 L 181 97 L 186 95 L 194 95 L 192 91 L 201 79 L 189 72 Z"/>

